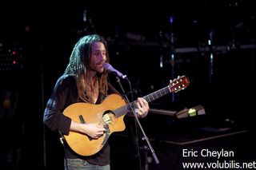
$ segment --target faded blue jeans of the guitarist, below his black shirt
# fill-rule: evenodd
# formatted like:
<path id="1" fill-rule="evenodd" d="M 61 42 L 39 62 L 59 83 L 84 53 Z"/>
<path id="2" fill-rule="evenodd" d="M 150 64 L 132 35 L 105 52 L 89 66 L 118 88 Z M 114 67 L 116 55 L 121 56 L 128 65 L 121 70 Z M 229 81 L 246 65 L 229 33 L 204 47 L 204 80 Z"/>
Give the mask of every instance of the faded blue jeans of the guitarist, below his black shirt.
<path id="1" fill-rule="evenodd" d="M 110 164 L 99 166 L 90 164 L 86 160 L 64 159 L 65 170 L 110 170 Z"/>

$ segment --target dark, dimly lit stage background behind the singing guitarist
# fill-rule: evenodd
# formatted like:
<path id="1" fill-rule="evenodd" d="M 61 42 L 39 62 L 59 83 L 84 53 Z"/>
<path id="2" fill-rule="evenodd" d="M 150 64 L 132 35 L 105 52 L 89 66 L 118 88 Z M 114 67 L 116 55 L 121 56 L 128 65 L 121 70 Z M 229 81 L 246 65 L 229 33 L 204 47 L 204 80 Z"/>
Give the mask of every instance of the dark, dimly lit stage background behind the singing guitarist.
<path id="1" fill-rule="evenodd" d="M 197 117 L 150 113 L 142 120 L 160 161 L 157 166 L 153 160 L 150 169 L 182 169 L 181 163 L 187 161 L 182 148 L 224 148 L 236 152 L 237 162 L 255 160 L 253 4 L 242 0 L 0 2 L 0 168 L 62 168 L 58 156 L 62 146 L 57 134 L 42 125 L 43 110 L 74 43 L 86 34 L 106 38 L 110 63 L 129 77 L 134 97 L 166 87 L 178 76 L 190 78 L 186 89 L 151 102 L 150 108 L 178 112 L 203 105 L 205 109 L 206 114 Z M 127 83 L 123 85 L 128 92 Z M 14 116 L 4 115 L 6 92 L 11 94 Z M 129 129 L 110 138 L 113 169 L 139 167 Z M 144 167 L 145 152 L 141 156 Z"/>

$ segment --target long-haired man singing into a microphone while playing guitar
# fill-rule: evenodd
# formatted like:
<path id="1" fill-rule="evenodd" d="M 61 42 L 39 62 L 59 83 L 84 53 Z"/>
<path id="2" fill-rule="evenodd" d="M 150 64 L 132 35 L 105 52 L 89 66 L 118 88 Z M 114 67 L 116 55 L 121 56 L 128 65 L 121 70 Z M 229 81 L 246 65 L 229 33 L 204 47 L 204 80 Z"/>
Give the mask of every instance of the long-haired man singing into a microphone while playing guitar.
<path id="1" fill-rule="evenodd" d="M 108 73 L 103 67 L 103 64 L 109 61 L 104 38 L 97 34 L 81 38 L 74 45 L 66 71 L 58 78 L 47 102 L 44 124 L 64 136 L 68 136 L 70 132 L 84 134 L 92 140 L 103 136 L 106 127 L 101 122 L 80 123 L 67 117 L 63 111 L 78 102 L 101 104 L 109 94 L 117 92 L 107 81 Z M 138 117 L 146 117 L 149 111 L 149 105 L 142 97 L 138 97 L 135 108 Z M 86 114 L 86 110 L 84 112 Z M 110 146 L 107 142 L 100 151 L 90 156 L 79 155 L 68 144 L 64 146 L 65 169 L 110 170 Z M 86 148 L 86 145 L 84 147 Z"/>

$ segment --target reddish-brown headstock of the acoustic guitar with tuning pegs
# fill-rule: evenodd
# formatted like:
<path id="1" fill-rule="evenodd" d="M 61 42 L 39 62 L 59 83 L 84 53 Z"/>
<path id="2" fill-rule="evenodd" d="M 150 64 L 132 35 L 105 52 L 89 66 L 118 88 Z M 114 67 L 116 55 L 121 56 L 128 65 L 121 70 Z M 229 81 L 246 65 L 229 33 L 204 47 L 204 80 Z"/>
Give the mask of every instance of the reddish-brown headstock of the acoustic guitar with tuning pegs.
<path id="1" fill-rule="evenodd" d="M 173 81 L 170 81 L 170 91 L 177 93 L 178 91 L 185 89 L 187 86 L 190 85 L 190 79 L 186 76 L 178 76 Z"/>

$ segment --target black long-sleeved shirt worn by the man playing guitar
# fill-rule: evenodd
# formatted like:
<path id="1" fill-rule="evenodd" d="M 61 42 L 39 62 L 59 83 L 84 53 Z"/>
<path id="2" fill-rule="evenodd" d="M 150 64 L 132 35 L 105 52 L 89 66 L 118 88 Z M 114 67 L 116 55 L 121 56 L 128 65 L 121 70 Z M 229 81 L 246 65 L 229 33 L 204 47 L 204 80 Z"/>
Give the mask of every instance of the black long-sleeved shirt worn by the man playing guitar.
<path id="1" fill-rule="evenodd" d="M 98 95 L 96 104 L 102 102 L 100 101 L 100 98 L 102 98 L 101 94 Z M 66 117 L 62 112 L 67 106 L 76 102 L 82 102 L 82 100 L 78 96 L 78 88 L 74 76 L 66 75 L 59 77 L 46 105 L 44 124 L 53 131 L 58 130 L 62 135 L 68 135 L 70 132 L 71 119 L 70 117 Z M 107 142 L 99 152 L 92 156 L 79 156 L 73 152 L 67 144 L 64 144 L 64 146 L 67 158 L 80 158 L 82 160 L 87 160 L 90 164 L 110 164 L 110 146 Z"/>

